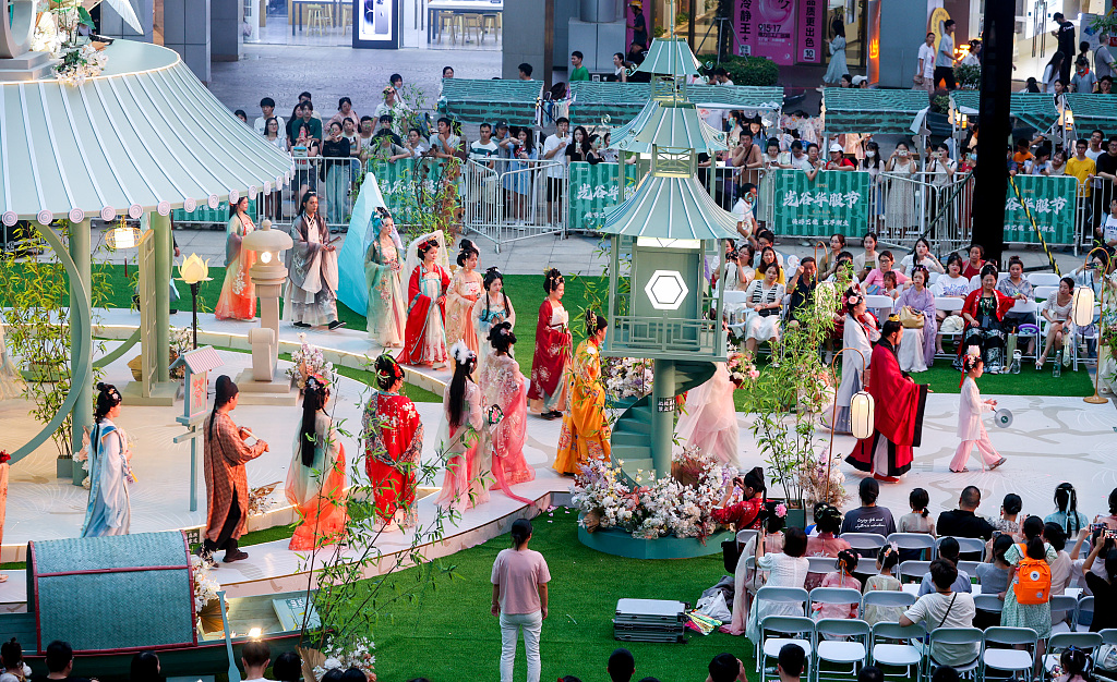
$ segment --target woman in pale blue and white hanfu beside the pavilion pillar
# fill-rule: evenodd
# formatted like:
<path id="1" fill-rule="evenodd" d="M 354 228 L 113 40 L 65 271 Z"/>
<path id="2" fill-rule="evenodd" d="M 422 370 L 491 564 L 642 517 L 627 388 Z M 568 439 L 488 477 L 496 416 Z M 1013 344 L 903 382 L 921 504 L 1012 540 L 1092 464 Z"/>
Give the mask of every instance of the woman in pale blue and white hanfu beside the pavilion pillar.
<path id="1" fill-rule="evenodd" d="M 124 431 L 113 423 L 121 414 L 121 394 L 112 384 L 97 384 L 97 410 L 89 434 L 89 506 L 85 510 L 82 537 L 127 535 L 132 522 L 128 483 L 132 451 Z"/>

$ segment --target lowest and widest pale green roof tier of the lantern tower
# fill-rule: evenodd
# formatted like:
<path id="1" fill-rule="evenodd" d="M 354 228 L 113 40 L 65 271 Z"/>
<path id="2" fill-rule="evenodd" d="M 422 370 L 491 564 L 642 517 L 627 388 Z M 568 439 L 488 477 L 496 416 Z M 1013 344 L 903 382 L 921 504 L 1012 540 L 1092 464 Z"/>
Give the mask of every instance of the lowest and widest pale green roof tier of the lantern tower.
<path id="1" fill-rule="evenodd" d="M 717 205 L 694 175 L 649 173 L 631 196 L 605 214 L 601 231 L 660 239 L 734 239 L 737 217 Z"/>

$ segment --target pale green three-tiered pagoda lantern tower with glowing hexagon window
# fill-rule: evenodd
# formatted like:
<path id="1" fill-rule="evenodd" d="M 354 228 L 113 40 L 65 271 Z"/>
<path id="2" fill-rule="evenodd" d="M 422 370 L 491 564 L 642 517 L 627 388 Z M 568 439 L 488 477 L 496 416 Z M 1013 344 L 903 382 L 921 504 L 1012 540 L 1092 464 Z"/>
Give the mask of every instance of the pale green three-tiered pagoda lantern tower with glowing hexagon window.
<path id="1" fill-rule="evenodd" d="M 612 460 L 632 478 L 638 470 L 667 476 L 671 467 L 676 395 L 707 381 L 726 359 L 722 328 L 723 282 L 710 288 L 706 260 L 719 268 L 719 240 L 737 236 L 737 220 L 697 179 L 698 152 L 725 148 L 687 100 L 687 77 L 697 59 L 685 41 L 652 42 L 641 69 L 658 73 L 652 99 L 614 132 L 613 145 L 650 156 L 636 191 L 605 217 L 609 234 L 609 319 L 603 354 L 655 362 L 652 394 L 614 424 Z M 623 463 L 621 463 L 623 462 Z"/>

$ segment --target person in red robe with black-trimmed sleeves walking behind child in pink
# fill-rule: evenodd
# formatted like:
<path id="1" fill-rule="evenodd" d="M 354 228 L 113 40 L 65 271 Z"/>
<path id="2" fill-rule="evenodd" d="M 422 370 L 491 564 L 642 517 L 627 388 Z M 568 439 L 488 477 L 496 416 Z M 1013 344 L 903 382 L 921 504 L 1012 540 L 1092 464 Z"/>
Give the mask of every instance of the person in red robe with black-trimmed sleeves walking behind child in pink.
<path id="1" fill-rule="evenodd" d="M 875 403 L 872 435 L 857 442 L 846 458 L 855 469 L 872 473 L 878 481 L 895 483 L 911 468 L 911 449 L 923 440 L 923 413 L 927 386 L 900 372 L 896 359 L 904 326 L 896 315 L 885 320 L 880 342 L 869 363 L 869 395 Z"/>

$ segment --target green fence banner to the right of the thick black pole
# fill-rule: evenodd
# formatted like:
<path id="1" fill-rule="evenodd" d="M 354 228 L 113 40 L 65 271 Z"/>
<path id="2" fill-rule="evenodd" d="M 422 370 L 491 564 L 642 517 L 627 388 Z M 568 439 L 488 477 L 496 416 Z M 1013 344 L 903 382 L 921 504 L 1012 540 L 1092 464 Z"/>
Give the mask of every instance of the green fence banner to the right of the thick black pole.
<path id="1" fill-rule="evenodd" d="M 1075 193 L 1078 180 L 1069 176 L 1016 175 L 1020 199 L 1009 185 L 1004 201 L 1004 241 L 1039 243 L 1024 205 L 1049 244 L 1075 241 Z M 1021 202 L 1021 199 L 1023 202 Z"/>

